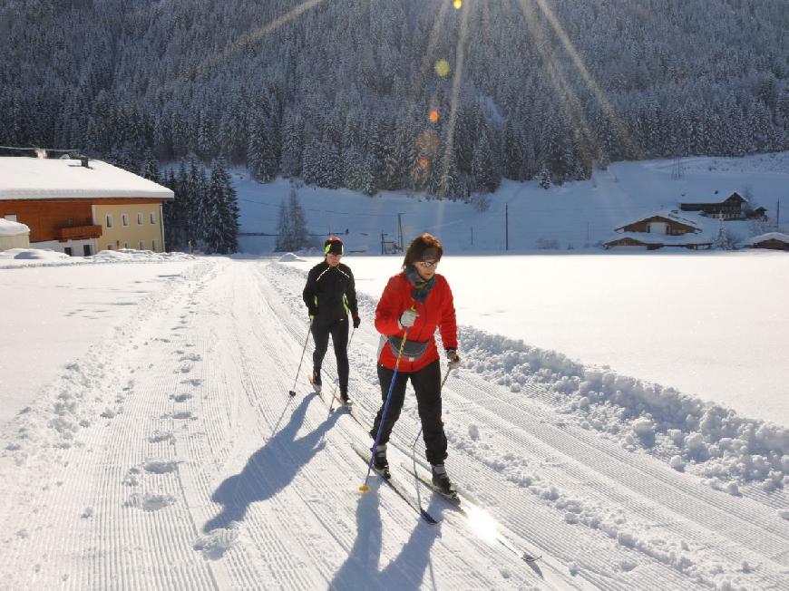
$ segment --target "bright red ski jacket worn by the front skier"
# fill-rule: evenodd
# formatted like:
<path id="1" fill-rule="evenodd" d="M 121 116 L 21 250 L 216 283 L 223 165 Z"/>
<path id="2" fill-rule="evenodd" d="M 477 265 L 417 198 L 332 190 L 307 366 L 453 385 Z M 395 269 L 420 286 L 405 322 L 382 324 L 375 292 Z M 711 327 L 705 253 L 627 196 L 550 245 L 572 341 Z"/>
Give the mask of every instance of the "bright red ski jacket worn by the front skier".
<path id="1" fill-rule="evenodd" d="M 454 301 L 452 290 L 446 279 L 435 274 L 435 285 L 424 304 L 414 302 L 412 292 L 414 286 L 408 281 L 404 273 L 389 278 L 384 288 L 384 294 L 375 308 L 375 328 L 385 337 L 395 335 L 403 338 L 405 329 L 399 325 L 400 315 L 412 305 L 419 313 L 414 326 L 408 329 L 407 340 L 426 343 L 426 349 L 418 359 L 411 359 L 405 355 L 400 359 L 400 372 L 418 372 L 423 367 L 438 359 L 438 350 L 435 346 L 435 329 L 441 331 L 443 346 L 447 349 L 457 349 L 457 322 L 454 315 Z M 382 343 L 378 354 L 378 363 L 389 369 L 395 369 L 396 352 L 392 351 L 389 343 Z M 396 348 L 395 348 L 396 351 Z"/>

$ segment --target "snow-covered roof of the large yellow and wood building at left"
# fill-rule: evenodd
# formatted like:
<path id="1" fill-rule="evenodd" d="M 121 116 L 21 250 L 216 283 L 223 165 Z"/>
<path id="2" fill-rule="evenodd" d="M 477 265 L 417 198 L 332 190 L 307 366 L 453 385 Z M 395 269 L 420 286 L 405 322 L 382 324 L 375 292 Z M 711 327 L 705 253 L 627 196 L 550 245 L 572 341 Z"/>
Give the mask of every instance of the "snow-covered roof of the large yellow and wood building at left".
<path id="1" fill-rule="evenodd" d="M 0 200 L 173 199 L 170 189 L 107 164 L 89 160 L 0 157 Z"/>

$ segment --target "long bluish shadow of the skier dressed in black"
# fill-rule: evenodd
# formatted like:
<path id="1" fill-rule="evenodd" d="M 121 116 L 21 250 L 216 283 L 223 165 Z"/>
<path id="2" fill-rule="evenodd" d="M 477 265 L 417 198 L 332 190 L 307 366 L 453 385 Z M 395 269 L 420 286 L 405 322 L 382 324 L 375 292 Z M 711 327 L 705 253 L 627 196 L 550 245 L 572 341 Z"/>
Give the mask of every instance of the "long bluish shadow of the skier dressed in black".
<path id="1" fill-rule="evenodd" d="M 203 526 L 208 533 L 216 528 L 229 528 L 231 522 L 241 521 L 249 506 L 257 501 L 270 499 L 287 487 L 298 470 L 326 447 L 324 435 L 332 428 L 342 412 L 335 412 L 315 431 L 296 439 L 304 422 L 307 406 L 316 395 L 306 396 L 290 416 L 287 425 L 278 431 L 266 445 L 249 456 L 247 465 L 239 474 L 223 480 L 211 495 L 211 500 L 222 505 L 222 510 Z"/>

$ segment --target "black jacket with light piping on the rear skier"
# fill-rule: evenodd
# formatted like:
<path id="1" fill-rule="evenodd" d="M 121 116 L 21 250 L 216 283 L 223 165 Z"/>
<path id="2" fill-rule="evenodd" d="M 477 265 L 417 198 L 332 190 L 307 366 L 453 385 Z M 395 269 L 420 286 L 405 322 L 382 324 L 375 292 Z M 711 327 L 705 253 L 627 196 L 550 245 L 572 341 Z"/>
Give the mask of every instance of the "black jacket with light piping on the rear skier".
<path id="1" fill-rule="evenodd" d="M 348 312 L 359 315 L 354 274 L 342 263 L 330 266 L 324 261 L 313 266 L 307 274 L 302 297 L 309 315 L 315 316 L 318 322 L 345 318 Z"/>

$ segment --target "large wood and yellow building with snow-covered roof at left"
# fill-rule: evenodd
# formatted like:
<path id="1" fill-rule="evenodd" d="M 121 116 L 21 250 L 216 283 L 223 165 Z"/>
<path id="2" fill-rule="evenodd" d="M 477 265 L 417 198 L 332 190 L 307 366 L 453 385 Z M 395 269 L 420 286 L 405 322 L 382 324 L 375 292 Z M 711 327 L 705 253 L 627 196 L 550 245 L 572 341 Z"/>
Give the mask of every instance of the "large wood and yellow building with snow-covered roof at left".
<path id="1" fill-rule="evenodd" d="M 0 158 L 0 218 L 30 228 L 30 247 L 87 257 L 162 252 L 170 189 L 101 160 Z"/>

